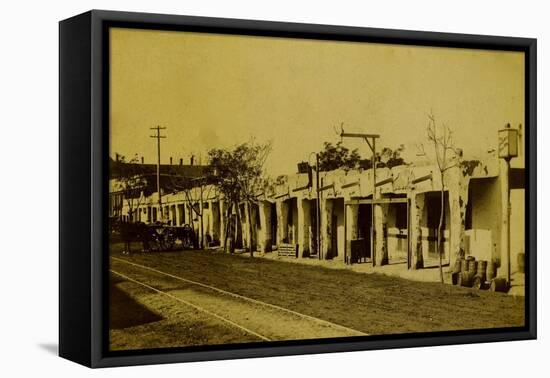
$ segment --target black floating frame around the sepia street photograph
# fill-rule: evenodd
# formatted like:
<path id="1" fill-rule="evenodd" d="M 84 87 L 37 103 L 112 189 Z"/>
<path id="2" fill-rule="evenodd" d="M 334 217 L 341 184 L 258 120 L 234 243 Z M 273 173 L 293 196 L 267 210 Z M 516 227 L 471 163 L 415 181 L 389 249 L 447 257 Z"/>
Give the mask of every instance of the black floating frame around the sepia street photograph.
<path id="1" fill-rule="evenodd" d="M 106 348 L 112 26 L 525 52 L 525 327 L 114 353 Z M 92 10 L 59 24 L 59 354 L 89 367 L 535 339 L 536 39 Z"/>

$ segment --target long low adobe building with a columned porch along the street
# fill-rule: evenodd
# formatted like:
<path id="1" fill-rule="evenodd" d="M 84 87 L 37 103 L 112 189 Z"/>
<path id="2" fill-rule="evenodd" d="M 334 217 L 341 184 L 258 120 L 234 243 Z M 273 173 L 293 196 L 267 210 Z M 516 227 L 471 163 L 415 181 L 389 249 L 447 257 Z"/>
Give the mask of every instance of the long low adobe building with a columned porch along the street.
<path id="1" fill-rule="evenodd" d="M 490 153 L 479 160 L 457 160 L 445 172 L 443 182 L 437 166 L 430 163 L 378 167 L 376 177 L 372 169 L 320 172 L 318 188 L 307 173 L 291 174 L 261 189 L 259 200 L 251 205 L 250 219 L 248 204 L 240 204 L 228 215 L 227 203 L 213 185 L 163 193 L 162 211 L 156 192 L 142 193 L 134 219 L 188 224 L 204 235 L 205 246 L 219 247 L 224 247 L 229 220 L 237 248 L 250 247 L 248 230 L 252 229 L 252 248 L 259 252 L 280 253 L 290 246 L 295 253 L 288 255 L 295 258 L 421 269 L 439 264 L 437 230 L 443 186 L 443 263 L 452 266 L 458 257 L 474 256 L 501 266 L 509 181 L 510 260 L 511 271 L 516 272 L 525 253 L 522 151 L 512 160 L 509 178 L 503 175 L 505 169 L 505 162 Z M 125 201 L 116 199 L 114 189 L 112 198 L 119 207 L 122 202 L 118 211 L 127 217 Z M 203 214 L 202 222 L 193 207 Z"/>

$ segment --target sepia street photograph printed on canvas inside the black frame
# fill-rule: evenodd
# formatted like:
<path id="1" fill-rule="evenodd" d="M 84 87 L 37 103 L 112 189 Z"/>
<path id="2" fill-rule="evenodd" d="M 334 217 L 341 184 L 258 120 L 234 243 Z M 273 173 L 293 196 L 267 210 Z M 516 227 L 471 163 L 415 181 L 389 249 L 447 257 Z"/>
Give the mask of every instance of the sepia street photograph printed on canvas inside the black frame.
<path id="1" fill-rule="evenodd" d="M 526 326 L 525 52 L 108 41 L 109 351 Z"/>

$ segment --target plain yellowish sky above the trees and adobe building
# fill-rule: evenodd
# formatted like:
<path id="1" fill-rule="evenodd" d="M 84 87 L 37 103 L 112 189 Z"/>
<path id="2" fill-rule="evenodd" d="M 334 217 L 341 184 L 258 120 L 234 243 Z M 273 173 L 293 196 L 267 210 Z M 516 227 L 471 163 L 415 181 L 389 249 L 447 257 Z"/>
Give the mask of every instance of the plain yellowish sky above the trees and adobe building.
<path id="1" fill-rule="evenodd" d="M 162 163 L 254 137 L 271 140 L 268 174 L 340 139 L 378 133 L 378 146 L 426 143 L 427 114 L 466 156 L 496 148 L 524 124 L 524 56 L 418 46 L 111 29 L 111 156 L 156 162 L 151 127 L 166 127 Z M 345 140 L 370 157 L 364 142 Z"/>

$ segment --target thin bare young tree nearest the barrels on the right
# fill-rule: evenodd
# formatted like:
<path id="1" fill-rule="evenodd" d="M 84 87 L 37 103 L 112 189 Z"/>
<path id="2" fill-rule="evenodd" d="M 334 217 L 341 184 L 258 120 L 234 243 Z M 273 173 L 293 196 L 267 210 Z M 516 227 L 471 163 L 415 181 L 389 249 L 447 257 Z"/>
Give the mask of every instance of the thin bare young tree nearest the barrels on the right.
<path id="1" fill-rule="evenodd" d="M 456 166 L 456 157 L 459 156 L 459 152 L 454 146 L 451 129 L 445 123 L 439 125 L 436 122 L 433 112 L 428 114 L 427 135 L 428 141 L 433 147 L 439 178 L 441 180 L 441 210 L 437 226 L 437 250 L 439 252 L 439 277 L 441 283 L 443 283 L 443 254 L 445 253 L 445 245 L 443 243 L 442 234 L 443 221 L 445 219 L 445 173 Z"/>

